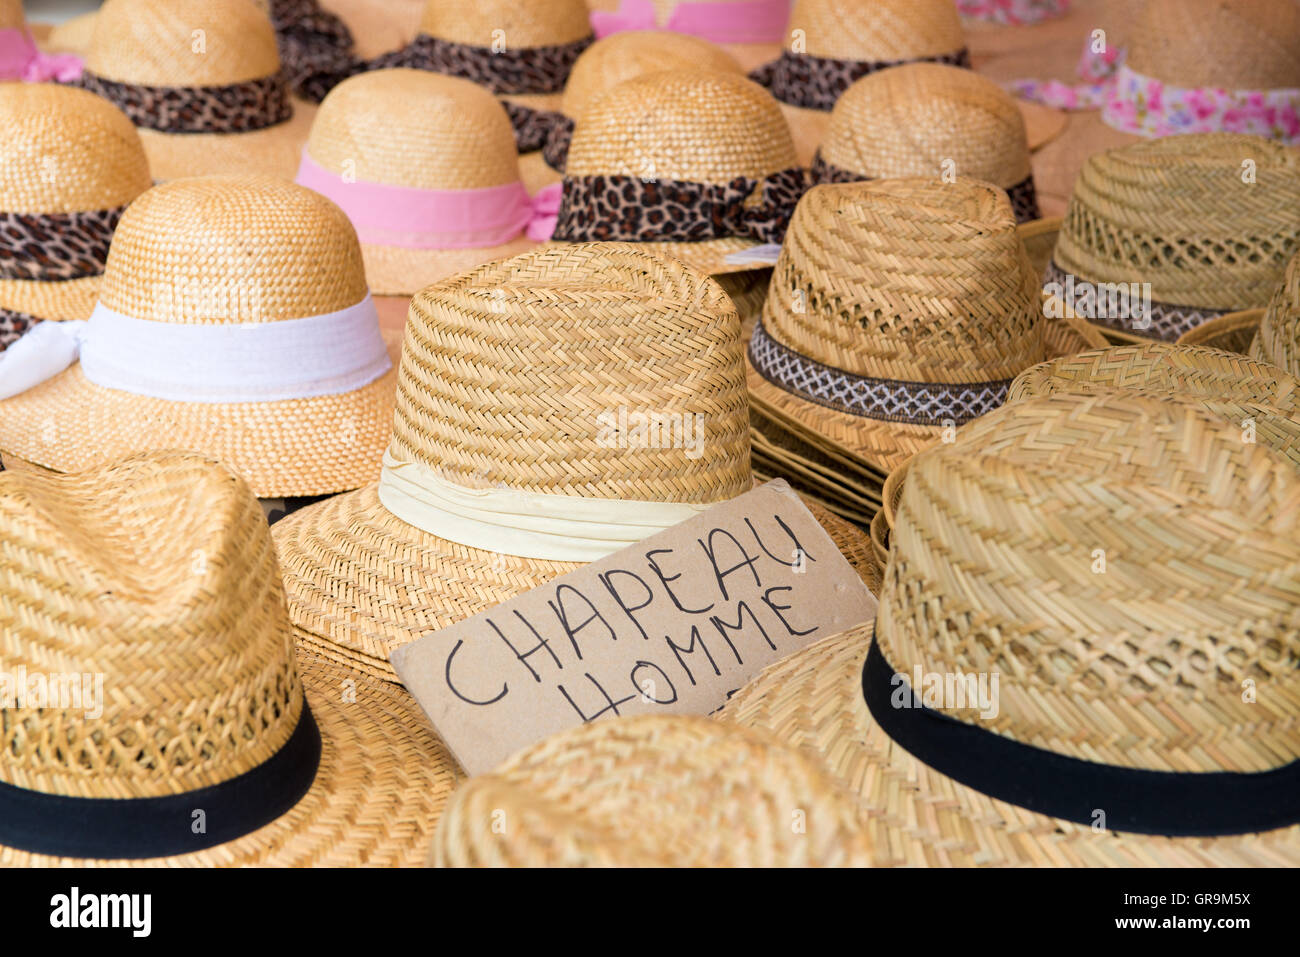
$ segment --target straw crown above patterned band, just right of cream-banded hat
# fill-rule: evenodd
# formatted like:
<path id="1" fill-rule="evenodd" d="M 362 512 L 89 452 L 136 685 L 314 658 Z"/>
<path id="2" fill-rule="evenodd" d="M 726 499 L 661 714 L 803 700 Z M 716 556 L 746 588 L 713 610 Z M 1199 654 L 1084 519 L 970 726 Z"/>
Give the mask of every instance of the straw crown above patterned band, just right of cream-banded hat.
<path id="1" fill-rule="evenodd" d="M 872 378 L 992 382 L 1043 359 L 1037 283 L 1010 202 L 962 177 L 809 191 L 763 325 L 810 359 Z"/>

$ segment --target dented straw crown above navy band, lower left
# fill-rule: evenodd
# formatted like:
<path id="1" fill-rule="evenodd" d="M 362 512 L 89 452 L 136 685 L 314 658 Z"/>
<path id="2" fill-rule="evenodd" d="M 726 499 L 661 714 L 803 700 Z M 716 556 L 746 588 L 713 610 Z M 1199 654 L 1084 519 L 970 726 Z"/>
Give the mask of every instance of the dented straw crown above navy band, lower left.
<path id="1" fill-rule="evenodd" d="M 0 723 L 0 781 L 164 797 L 289 740 L 303 706 L 292 633 L 243 480 L 192 452 L 5 472 L 0 529 L 0 672 L 25 694 Z"/>

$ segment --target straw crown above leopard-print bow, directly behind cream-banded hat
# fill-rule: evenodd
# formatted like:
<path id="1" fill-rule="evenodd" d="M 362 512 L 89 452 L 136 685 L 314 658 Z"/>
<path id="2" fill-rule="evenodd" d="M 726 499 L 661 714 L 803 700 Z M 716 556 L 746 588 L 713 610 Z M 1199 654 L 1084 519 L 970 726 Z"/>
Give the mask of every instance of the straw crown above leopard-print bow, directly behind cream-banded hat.
<path id="1" fill-rule="evenodd" d="M 566 176 L 729 183 L 798 165 L 772 95 L 708 70 L 650 73 L 619 83 L 578 118 Z"/>

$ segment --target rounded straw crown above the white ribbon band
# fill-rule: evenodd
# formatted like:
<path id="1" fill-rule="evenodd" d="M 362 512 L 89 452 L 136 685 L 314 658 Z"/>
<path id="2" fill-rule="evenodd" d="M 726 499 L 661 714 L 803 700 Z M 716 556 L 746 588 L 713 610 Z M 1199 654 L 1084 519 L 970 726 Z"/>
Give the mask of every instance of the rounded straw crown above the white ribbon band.
<path id="1" fill-rule="evenodd" d="M 100 303 L 156 322 L 274 322 L 365 298 L 356 231 L 337 205 L 263 176 L 173 179 L 118 222 Z"/>

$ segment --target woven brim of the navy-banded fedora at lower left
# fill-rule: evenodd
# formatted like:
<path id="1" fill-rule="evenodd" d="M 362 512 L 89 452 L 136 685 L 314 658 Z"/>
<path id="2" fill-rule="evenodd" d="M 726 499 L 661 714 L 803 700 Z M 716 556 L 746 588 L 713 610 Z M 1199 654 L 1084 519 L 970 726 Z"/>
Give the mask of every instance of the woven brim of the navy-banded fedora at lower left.
<path id="1" fill-rule="evenodd" d="M 316 779 L 283 815 L 238 840 L 140 861 L 47 857 L 0 846 L 0 866 L 419 867 L 463 776 L 404 689 L 298 649 L 320 728 Z M 344 689 L 355 688 L 352 694 Z"/>

